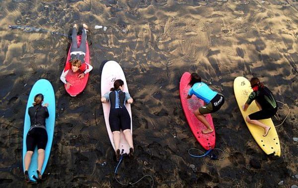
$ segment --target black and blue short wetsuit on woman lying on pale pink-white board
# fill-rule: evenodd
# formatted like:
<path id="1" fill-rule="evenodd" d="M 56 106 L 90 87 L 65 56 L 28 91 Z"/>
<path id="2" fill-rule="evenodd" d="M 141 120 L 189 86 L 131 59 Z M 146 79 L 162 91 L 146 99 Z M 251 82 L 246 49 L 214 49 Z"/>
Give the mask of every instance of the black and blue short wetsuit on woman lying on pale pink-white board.
<path id="1" fill-rule="evenodd" d="M 109 123 L 111 131 L 120 131 L 131 128 L 131 118 L 125 107 L 125 102 L 131 98 L 129 93 L 121 90 L 108 92 L 103 95 L 110 101 L 111 108 L 109 114 Z"/>

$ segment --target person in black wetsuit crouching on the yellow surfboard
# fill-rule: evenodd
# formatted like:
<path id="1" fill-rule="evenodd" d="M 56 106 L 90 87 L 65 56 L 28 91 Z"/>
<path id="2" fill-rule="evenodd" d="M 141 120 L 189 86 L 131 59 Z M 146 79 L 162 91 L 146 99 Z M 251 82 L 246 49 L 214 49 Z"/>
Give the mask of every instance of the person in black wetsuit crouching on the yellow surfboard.
<path id="1" fill-rule="evenodd" d="M 263 83 L 256 77 L 250 80 L 250 86 L 253 92 L 248 96 L 247 101 L 242 106 L 243 111 L 246 111 L 248 106 L 253 100 L 255 100 L 260 111 L 249 114 L 246 117 L 246 121 L 251 124 L 258 125 L 264 129 L 263 136 L 267 136 L 270 126 L 258 121 L 260 119 L 268 119 L 274 116 L 277 112 L 277 102 L 272 94 L 272 92 L 264 86 Z"/>

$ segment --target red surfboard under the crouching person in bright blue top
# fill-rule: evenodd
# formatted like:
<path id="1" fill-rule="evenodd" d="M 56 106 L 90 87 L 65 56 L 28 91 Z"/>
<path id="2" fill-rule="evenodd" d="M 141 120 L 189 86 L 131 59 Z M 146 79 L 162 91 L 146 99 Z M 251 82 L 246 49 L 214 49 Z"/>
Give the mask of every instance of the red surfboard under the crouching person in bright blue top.
<path id="1" fill-rule="evenodd" d="M 188 90 L 190 89 L 190 86 L 188 86 L 189 81 L 190 73 L 185 72 L 181 77 L 179 87 L 180 99 L 185 117 L 192 133 L 194 134 L 198 142 L 203 146 L 203 148 L 206 150 L 214 149 L 215 131 L 209 134 L 203 134 L 202 130 L 206 129 L 206 126 L 201 121 L 199 121 L 194 114 L 194 111 L 196 109 L 204 105 L 204 101 L 202 99 L 199 99 L 195 95 L 192 95 L 191 98 L 186 99 Z M 212 129 L 215 130 L 210 113 L 206 115 L 206 119 L 210 123 Z"/>

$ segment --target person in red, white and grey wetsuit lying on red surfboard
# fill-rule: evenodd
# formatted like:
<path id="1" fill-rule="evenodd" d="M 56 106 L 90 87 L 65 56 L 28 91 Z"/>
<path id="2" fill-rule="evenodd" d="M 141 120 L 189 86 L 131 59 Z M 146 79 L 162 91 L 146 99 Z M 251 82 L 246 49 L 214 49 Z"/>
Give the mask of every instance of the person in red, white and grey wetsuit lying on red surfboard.
<path id="1" fill-rule="evenodd" d="M 83 73 L 78 75 L 78 79 L 84 78 L 85 74 L 89 73 L 93 67 L 85 62 L 86 55 L 86 38 L 88 26 L 83 23 L 82 29 L 82 38 L 81 44 L 77 47 L 76 35 L 77 35 L 77 24 L 74 24 L 73 33 L 72 33 L 72 46 L 71 46 L 71 60 L 66 63 L 66 66 L 61 74 L 60 80 L 66 84 L 67 89 L 69 89 L 72 84 L 67 82 L 66 75 L 69 71 L 73 71 L 74 73 L 78 70 L 81 70 Z"/>

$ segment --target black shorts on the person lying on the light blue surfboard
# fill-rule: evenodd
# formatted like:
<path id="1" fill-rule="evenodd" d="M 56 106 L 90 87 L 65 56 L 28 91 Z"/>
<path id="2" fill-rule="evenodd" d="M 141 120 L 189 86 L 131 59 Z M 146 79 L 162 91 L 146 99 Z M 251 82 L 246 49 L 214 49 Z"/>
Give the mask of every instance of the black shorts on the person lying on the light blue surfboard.
<path id="1" fill-rule="evenodd" d="M 31 129 L 26 137 L 27 151 L 33 151 L 37 145 L 37 149 L 46 149 L 48 143 L 48 133 L 46 129 L 35 127 Z"/>

